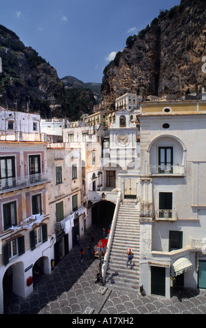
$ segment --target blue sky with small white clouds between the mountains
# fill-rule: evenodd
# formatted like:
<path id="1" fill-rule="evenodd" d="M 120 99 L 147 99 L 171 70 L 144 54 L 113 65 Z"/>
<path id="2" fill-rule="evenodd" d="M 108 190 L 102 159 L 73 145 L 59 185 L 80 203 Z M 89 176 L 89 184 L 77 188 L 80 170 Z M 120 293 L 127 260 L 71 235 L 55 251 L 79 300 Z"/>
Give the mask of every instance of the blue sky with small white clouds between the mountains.
<path id="1" fill-rule="evenodd" d="M 160 10 L 180 0 L 0 0 L 0 24 L 57 70 L 102 82 L 103 69 Z"/>

